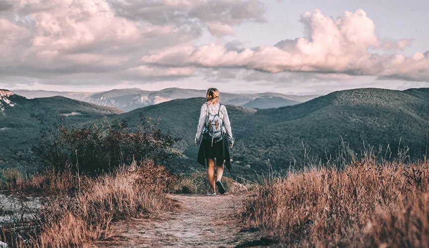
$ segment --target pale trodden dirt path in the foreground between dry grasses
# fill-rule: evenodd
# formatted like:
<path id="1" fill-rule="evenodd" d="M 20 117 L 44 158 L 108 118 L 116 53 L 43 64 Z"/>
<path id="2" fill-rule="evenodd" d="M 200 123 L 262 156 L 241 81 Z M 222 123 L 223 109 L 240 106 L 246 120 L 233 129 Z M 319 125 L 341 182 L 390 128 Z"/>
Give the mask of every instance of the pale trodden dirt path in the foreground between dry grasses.
<path id="1" fill-rule="evenodd" d="M 109 247 L 249 247 L 264 245 L 258 232 L 232 218 L 238 195 L 169 195 L 181 206 L 149 219 L 124 224 L 123 241 Z"/>

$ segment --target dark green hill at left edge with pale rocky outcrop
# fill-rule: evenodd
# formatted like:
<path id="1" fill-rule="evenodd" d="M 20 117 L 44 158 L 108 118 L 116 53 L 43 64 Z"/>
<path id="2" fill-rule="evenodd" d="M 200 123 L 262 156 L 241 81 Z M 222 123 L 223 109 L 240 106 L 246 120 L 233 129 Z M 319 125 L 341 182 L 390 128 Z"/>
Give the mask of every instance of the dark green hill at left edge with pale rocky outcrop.
<path id="1" fill-rule="evenodd" d="M 62 96 L 27 99 L 8 90 L 0 90 L 0 112 L 0 164 L 12 157 L 12 150 L 25 153 L 25 143 L 39 137 L 42 126 L 33 120 L 33 114 L 50 123 L 59 122 L 65 116 L 66 124 L 82 124 L 123 113 Z"/>

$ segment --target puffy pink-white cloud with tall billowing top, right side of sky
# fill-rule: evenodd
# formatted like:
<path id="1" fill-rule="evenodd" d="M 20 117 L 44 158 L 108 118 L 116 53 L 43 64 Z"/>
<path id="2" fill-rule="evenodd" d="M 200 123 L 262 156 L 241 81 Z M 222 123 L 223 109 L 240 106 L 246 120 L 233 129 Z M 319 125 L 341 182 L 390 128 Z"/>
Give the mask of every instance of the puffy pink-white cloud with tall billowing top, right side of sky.
<path id="1" fill-rule="evenodd" d="M 411 39 L 380 45 L 374 23 L 362 9 L 346 11 L 337 19 L 316 9 L 303 13 L 300 22 L 305 37 L 283 40 L 274 46 L 237 51 L 219 44 L 176 46 L 144 56 L 142 61 L 169 66 L 240 67 L 270 73 L 341 73 L 429 81 L 428 53 L 405 57 L 369 52 L 370 49 L 404 49 Z"/>

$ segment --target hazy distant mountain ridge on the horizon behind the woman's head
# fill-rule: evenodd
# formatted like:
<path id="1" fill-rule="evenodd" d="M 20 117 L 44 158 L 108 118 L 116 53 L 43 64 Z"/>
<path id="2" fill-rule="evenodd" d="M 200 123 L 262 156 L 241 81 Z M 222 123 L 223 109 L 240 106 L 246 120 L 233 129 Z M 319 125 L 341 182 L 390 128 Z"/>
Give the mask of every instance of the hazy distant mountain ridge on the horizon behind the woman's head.
<path id="1" fill-rule="evenodd" d="M 113 89 L 104 92 L 55 92 L 55 91 L 28 91 L 16 90 L 17 94 L 28 97 L 51 97 L 64 96 L 67 98 L 94 103 L 101 106 L 115 107 L 124 111 L 131 111 L 138 108 L 167 102 L 175 99 L 187 99 L 194 97 L 204 97 L 205 90 L 166 88 L 158 91 L 148 91 L 139 88 Z M 267 109 L 279 108 L 299 104 L 318 95 L 295 96 L 280 93 L 223 93 L 221 99 L 224 104 L 244 106 L 249 108 Z"/>

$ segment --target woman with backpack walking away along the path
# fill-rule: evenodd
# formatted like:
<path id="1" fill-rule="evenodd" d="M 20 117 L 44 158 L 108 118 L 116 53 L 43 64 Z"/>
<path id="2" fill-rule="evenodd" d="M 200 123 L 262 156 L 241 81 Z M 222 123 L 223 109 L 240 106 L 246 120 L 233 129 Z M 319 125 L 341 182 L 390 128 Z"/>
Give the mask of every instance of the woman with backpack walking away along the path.
<path id="1" fill-rule="evenodd" d="M 224 105 L 219 104 L 219 91 L 216 88 L 207 90 L 206 103 L 201 106 L 195 144 L 200 145 L 197 162 L 206 166 L 210 190 L 207 195 L 216 195 L 216 188 L 220 194 L 225 193 L 221 183 L 223 164 L 231 170 L 231 160 L 228 147 L 232 148 L 231 125 Z M 214 158 L 216 158 L 216 175 L 214 175 Z"/>

